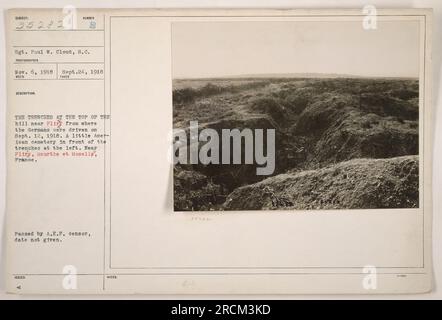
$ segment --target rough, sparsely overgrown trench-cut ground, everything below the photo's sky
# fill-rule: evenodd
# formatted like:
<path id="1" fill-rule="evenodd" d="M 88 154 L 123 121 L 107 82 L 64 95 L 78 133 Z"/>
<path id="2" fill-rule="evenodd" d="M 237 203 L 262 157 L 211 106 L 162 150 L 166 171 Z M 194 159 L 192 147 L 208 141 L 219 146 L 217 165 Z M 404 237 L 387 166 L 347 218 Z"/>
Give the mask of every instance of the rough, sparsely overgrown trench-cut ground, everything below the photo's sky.
<path id="1" fill-rule="evenodd" d="M 276 170 L 177 165 L 175 209 L 416 207 L 418 92 L 411 79 L 176 80 L 175 128 L 274 128 Z"/>

